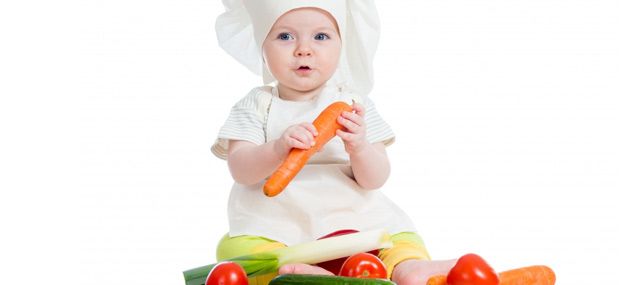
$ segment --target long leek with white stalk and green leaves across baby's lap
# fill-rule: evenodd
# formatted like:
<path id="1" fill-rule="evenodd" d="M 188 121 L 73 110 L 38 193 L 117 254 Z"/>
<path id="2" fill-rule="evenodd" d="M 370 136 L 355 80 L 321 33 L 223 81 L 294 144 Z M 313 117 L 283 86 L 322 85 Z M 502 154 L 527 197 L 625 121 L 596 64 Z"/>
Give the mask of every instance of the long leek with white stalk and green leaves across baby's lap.
<path id="1" fill-rule="evenodd" d="M 254 277 L 276 272 L 284 264 L 316 264 L 391 246 L 390 235 L 385 230 L 374 230 L 330 237 L 221 261 L 235 262 L 244 268 L 248 277 Z M 184 271 L 186 285 L 204 284 L 214 266 L 215 264 L 209 264 Z"/>

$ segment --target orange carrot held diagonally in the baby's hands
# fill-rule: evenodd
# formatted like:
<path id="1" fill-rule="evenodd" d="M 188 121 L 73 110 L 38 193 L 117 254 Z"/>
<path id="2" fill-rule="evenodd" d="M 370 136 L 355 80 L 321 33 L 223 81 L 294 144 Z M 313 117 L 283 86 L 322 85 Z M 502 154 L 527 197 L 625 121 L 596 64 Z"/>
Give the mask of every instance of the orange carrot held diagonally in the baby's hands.
<path id="1" fill-rule="evenodd" d="M 319 133 L 315 137 L 315 145 L 309 149 L 293 148 L 288 153 L 288 157 L 270 176 L 266 184 L 264 184 L 264 194 L 273 197 L 288 186 L 288 183 L 299 173 L 301 168 L 308 162 L 308 159 L 321 149 L 321 147 L 331 140 L 337 130 L 343 130 L 344 127 L 337 122 L 337 118 L 344 111 L 351 112 L 352 106 L 344 102 L 335 102 L 326 107 L 321 114 L 312 122 Z"/>

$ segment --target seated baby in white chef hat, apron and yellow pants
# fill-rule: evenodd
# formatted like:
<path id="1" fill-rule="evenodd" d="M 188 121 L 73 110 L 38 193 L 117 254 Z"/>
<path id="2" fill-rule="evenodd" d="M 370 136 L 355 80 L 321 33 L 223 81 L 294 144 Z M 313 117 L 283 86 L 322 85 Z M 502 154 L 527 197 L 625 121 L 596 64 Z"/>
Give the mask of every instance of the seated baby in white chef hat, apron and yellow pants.
<path id="1" fill-rule="evenodd" d="M 380 190 L 390 174 L 385 148 L 394 141 L 367 96 L 378 17 L 370 0 L 227 0 L 216 24 L 222 48 L 262 75 L 231 109 L 213 153 L 235 180 L 229 232 L 217 258 L 257 253 L 352 229 L 384 228 L 394 246 L 379 257 L 399 285 L 425 284 L 455 260 L 431 261 L 410 218 Z M 265 179 L 293 148 L 314 145 L 315 117 L 335 101 L 355 102 L 338 123 L 345 131 L 317 152 L 279 195 Z M 333 274 L 288 264 L 279 274 Z M 268 284 L 275 275 L 250 279 Z"/>

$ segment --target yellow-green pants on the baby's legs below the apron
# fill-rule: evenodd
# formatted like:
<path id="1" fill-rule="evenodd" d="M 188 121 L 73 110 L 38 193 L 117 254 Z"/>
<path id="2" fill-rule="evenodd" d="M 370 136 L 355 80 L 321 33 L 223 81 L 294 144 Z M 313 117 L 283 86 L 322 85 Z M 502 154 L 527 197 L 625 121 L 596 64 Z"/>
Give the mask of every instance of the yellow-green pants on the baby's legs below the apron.
<path id="1" fill-rule="evenodd" d="M 394 245 L 391 248 L 379 251 L 379 258 L 388 269 L 388 278 L 392 276 L 394 267 L 407 259 L 430 260 L 430 255 L 425 249 L 423 240 L 413 232 L 403 232 L 392 235 Z M 229 259 L 237 256 L 248 255 L 286 247 L 285 244 L 259 236 L 225 235 L 217 245 L 217 260 Z M 277 273 L 250 278 L 250 285 L 268 285 Z"/>

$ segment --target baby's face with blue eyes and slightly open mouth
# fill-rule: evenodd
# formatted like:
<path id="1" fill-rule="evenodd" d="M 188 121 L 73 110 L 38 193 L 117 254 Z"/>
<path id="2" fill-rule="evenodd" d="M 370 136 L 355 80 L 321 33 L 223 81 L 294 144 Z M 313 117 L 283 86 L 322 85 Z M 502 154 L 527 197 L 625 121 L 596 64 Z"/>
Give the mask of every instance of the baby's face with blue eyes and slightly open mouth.
<path id="1" fill-rule="evenodd" d="M 300 8 L 277 19 L 263 50 L 268 69 L 279 84 L 304 92 L 332 77 L 339 63 L 341 38 L 329 13 Z"/>

